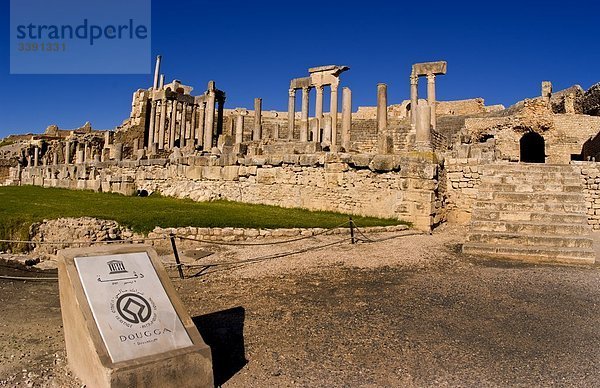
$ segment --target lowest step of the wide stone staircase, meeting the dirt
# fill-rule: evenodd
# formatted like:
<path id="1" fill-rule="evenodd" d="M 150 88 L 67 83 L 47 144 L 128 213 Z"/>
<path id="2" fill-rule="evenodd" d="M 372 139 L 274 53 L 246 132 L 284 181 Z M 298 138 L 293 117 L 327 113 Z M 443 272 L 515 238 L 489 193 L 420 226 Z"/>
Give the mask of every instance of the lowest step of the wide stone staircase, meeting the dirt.
<path id="1" fill-rule="evenodd" d="M 531 246 L 488 245 L 466 243 L 463 252 L 519 260 L 535 260 L 552 263 L 593 264 L 596 253 L 588 248 L 544 248 Z"/>

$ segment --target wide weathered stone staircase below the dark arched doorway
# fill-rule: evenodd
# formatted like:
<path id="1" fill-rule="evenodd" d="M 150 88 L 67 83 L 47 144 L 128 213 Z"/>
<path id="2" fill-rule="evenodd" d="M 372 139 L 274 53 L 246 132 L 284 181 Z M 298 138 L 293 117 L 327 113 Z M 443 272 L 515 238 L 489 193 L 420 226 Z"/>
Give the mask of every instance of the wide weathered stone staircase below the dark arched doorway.
<path id="1" fill-rule="evenodd" d="M 468 254 L 594 263 L 580 173 L 570 165 L 491 164 L 483 169 Z"/>

